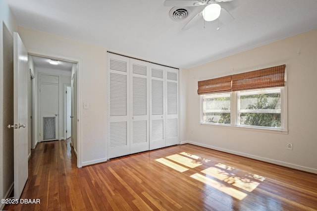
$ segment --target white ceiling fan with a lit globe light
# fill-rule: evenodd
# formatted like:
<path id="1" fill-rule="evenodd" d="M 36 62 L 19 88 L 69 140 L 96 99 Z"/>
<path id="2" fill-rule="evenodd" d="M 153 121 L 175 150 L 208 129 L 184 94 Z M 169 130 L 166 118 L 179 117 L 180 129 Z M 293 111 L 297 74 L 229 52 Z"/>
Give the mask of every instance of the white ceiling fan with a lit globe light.
<path id="1" fill-rule="evenodd" d="M 228 23 L 234 20 L 233 16 L 218 2 L 227 2 L 232 0 L 165 0 L 164 6 L 201 6 L 205 5 L 204 9 L 198 12 L 192 19 L 190 19 L 182 30 L 189 29 L 202 16 L 205 21 L 213 21 L 218 19 L 221 22 Z M 221 14 L 221 16 L 220 16 Z M 217 30 L 219 27 L 217 28 Z"/>

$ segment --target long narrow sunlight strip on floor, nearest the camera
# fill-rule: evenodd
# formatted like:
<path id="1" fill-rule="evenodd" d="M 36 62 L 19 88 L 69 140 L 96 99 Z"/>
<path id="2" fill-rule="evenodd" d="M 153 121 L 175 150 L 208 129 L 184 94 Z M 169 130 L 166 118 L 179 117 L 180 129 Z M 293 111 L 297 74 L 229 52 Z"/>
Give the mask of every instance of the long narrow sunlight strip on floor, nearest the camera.
<path id="1" fill-rule="evenodd" d="M 200 181 L 200 182 L 203 182 L 209 186 L 211 186 L 212 188 L 215 188 L 219 191 L 222 191 L 223 193 L 225 194 L 228 194 L 238 200 L 243 200 L 246 196 L 248 196 L 246 193 L 243 193 L 241 191 L 238 191 L 234 188 L 230 188 L 230 187 L 227 187 L 211 178 L 208 178 L 204 175 L 201 175 L 199 173 L 195 173 L 193 175 L 191 175 L 190 177 Z"/>

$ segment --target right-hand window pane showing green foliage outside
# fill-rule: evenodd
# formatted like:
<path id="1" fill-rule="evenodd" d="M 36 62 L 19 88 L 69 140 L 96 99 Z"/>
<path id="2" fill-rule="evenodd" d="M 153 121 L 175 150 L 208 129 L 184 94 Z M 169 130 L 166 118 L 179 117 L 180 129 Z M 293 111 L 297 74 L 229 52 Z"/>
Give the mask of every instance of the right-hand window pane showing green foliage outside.
<path id="1" fill-rule="evenodd" d="M 238 124 L 281 127 L 281 89 L 238 92 Z"/>

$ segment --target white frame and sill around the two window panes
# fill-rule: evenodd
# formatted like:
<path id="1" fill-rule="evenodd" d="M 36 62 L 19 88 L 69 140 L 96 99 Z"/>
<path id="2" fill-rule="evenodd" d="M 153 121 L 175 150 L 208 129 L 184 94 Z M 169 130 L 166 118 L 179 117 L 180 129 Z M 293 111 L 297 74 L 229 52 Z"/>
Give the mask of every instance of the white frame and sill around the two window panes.
<path id="1" fill-rule="evenodd" d="M 277 132 L 288 134 L 288 124 L 287 124 L 287 84 L 285 81 L 284 87 L 274 87 L 270 88 L 274 89 L 281 89 L 280 98 L 281 98 L 281 127 L 274 128 L 274 127 L 265 127 L 265 126 L 256 126 L 256 125 L 240 125 L 238 124 L 238 103 L 239 103 L 239 91 L 232 91 L 228 92 L 230 94 L 230 124 L 225 123 L 212 123 L 212 122 L 203 122 L 204 118 L 204 95 L 200 96 L 200 124 L 206 126 L 220 126 L 226 128 L 234 128 L 234 129 L 245 129 L 245 130 L 258 130 L 258 131 L 267 131 L 267 132 Z M 258 90 L 258 89 L 254 89 Z M 251 90 L 249 90 L 251 91 Z"/>

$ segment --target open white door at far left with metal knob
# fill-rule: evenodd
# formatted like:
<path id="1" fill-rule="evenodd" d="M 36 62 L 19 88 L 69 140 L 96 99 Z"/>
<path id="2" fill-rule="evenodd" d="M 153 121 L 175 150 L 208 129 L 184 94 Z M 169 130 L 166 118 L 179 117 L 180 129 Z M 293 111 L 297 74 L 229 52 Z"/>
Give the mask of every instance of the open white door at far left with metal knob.
<path id="1" fill-rule="evenodd" d="M 28 178 L 28 54 L 18 33 L 13 37 L 14 199 L 19 199 Z"/>

